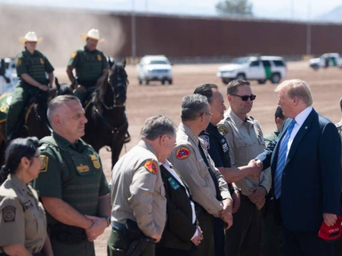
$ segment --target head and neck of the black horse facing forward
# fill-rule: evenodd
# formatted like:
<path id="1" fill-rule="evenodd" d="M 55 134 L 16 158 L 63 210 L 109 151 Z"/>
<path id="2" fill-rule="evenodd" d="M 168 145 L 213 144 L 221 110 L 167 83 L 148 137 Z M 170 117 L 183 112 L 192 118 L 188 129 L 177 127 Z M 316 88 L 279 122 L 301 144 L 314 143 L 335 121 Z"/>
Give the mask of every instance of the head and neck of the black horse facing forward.
<path id="1" fill-rule="evenodd" d="M 124 106 L 128 86 L 125 70 L 126 60 L 111 62 L 109 59 L 109 66 L 110 70 L 104 79 L 98 82 L 97 90 L 95 91 L 95 102 L 101 102 L 102 106 L 107 110 Z"/>

